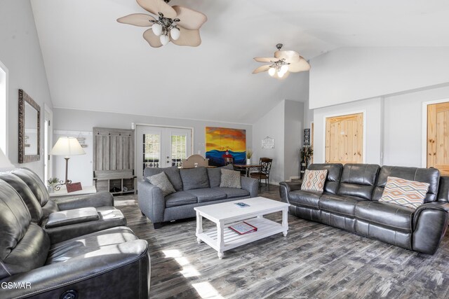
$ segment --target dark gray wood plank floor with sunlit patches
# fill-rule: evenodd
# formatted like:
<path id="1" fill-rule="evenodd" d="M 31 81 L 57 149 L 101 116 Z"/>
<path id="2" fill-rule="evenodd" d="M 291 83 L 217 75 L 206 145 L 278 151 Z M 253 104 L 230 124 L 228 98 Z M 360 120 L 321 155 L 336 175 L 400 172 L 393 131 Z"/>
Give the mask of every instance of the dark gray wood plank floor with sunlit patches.
<path id="1" fill-rule="evenodd" d="M 279 188 L 270 188 L 260 195 L 279 200 Z M 116 197 L 116 206 L 149 242 L 151 298 L 449 297 L 448 233 L 428 256 L 289 215 L 287 237 L 225 251 L 220 260 L 196 243 L 194 219 L 154 230 L 134 195 Z"/>

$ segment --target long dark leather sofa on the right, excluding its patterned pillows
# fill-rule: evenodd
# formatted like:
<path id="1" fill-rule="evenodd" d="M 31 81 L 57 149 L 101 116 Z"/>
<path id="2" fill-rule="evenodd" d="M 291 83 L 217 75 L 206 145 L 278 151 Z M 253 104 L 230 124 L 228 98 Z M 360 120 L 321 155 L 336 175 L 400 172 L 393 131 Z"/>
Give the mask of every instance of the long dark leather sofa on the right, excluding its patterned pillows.
<path id="1" fill-rule="evenodd" d="M 290 214 L 413 251 L 434 254 L 438 249 L 449 211 L 449 177 L 440 177 L 438 169 L 373 164 L 312 164 L 308 169 L 328 169 L 324 190 L 281 182 Z M 388 176 L 429 183 L 424 204 L 411 209 L 379 202 Z"/>

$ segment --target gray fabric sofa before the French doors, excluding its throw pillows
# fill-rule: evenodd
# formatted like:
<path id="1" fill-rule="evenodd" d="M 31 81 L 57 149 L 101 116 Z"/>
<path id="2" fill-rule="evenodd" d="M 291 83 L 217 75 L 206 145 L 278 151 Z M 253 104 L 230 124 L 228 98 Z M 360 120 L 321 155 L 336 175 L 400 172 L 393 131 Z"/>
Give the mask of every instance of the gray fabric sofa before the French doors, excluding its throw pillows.
<path id="1" fill-rule="evenodd" d="M 194 207 L 217 204 L 257 196 L 257 180 L 241 176 L 241 189 L 221 188 L 221 168 L 177 167 L 152 168 L 144 171 L 144 179 L 138 181 L 138 201 L 142 214 L 160 228 L 163 222 L 196 216 Z M 148 176 L 165 172 L 176 192 L 163 197 L 162 190 L 147 180 Z"/>

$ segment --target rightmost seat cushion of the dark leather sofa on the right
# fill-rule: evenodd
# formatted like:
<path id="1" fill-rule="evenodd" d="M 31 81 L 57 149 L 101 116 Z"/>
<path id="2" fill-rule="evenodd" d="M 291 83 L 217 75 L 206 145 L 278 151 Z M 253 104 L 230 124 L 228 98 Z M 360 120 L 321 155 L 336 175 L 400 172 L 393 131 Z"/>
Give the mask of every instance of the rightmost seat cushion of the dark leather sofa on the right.
<path id="1" fill-rule="evenodd" d="M 401 232 L 412 232 L 413 212 L 409 207 L 388 202 L 363 201 L 356 205 L 356 219 Z"/>

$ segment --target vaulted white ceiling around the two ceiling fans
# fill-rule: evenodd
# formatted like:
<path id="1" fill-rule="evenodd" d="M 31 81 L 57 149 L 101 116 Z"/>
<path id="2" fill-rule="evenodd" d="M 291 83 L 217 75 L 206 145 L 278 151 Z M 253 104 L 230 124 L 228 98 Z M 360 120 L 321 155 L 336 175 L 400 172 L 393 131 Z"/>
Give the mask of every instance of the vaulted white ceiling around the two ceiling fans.
<path id="1" fill-rule="evenodd" d="M 448 1 L 172 0 L 208 16 L 201 46 L 151 48 L 135 0 L 32 0 L 55 107 L 253 123 L 307 99 L 307 73 L 251 72 L 276 43 L 306 59 L 340 47 L 449 46 Z M 313 61 L 311 62 L 313 68 Z M 326 88 L 326 87 L 323 87 Z"/>

